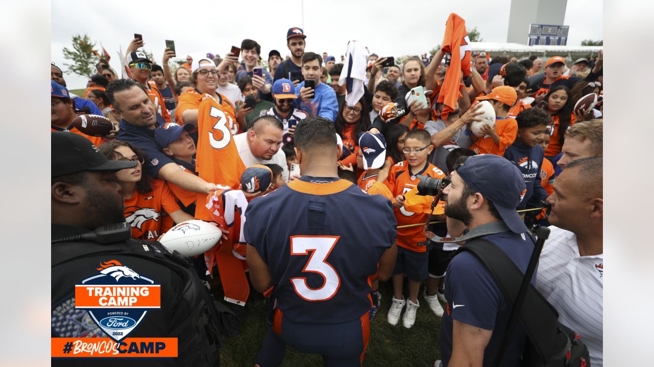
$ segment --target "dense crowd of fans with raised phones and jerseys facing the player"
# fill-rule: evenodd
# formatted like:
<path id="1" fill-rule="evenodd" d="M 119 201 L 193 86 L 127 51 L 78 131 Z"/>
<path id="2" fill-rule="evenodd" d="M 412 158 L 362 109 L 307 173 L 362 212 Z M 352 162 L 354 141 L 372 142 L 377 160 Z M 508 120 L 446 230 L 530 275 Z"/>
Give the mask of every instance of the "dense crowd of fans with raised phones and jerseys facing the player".
<path id="1" fill-rule="evenodd" d="M 396 325 L 402 318 L 405 328 L 413 327 L 422 298 L 438 317 L 455 320 L 455 335 L 457 323 L 485 330 L 493 325 L 457 319 L 450 310 L 443 285 L 459 244 L 424 246 L 429 241 L 421 225 L 428 213 L 412 210 L 413 196 L 408 194 L 419 183 L 418 175 L 445 178 L 455 172 L 461 157 L 504 157 L 519 169 L 526 187 L 513 209 L 522 210 L 527 227 L 556 226 L 555 239 L 543 249 L 537 285 L 589 345 L 593 366 L 601 366 L 602 163 L 591 158 L 602 156 L 602 52 L 594 59 L 571 62 L 561 56 L 516 59 L 473 50 L 470 76 L 462 78 L 455 91 L 458 102 L 444 117 L 446 106 L 438 102 L 439 93 L 452 91 L 442 88 L 449 65 L 441 50 L 396 59 L 394 65 L 385 64 L 387 57 L 369 54 L 365 71 L 359 70 L 365 74 L 364 88 L 349 99 L 354 89 L 345 80 L 349 74 L 344 68 L 353 68 L 348 66 L 351 54 L 337 61 L 327 53 L 310 52 L 316 46 L 298 27 L 288 29 L 286 42 L 290 57 L 283 59 L 271 50 L 266 69 L 262 46 L 250 39 L 241 42 L 239 55 L 189 56 L 175 68 L 169 62 L 175 56 L 172 50 L 166 48 L 162 65 L 157 65 L 139 51 L 143 41 L 133 39 L 126 52 L 129 78 L 120 78 L 122 72 L 101 60 L 84 96 L 66 89 L 63 71 L 53 63 L 52 130 L 86 136 L 72 125 L 81 111 L 114 123 L 111 135 L 86 137 L 108 159 L 138 163 L 116 173 L 124 216 L 133 238 L 156 240 L 174 223 L 212 221 L 207 194 L 220 187 L 243 189 L 239 176 L 246 167 L 271 168 L 273 184 L 266 193 L 300 179 L 300 172 L 293 170 L 298 163 L 296 128 L 313 116 L 332 121 L 341 152 L 339 177 L 388 197 L 400 226 L 388 323 Z M 419 86 L 426 91 L 426 104 L 409 98 Z M 596 93 L 598 104 L 575 110 L 577 101 L 589 93 Z M 490 103 L 496 121 L 475 134 L 481 101 Z M 389 103 L 395 103 L 395 114 L 385 110 Z M 484 192 L 479 187 L 462 190 L 460 195 L 468 197 Z M 245 196 L 260 200 L 250 193 Z M 549 216 L 543 208 L 547 203 Z M 448 207 L 453 205 L 447 201 Z M 455 223 L 447 209 L 438 210 L 436 219 L 447 219 L 447 225 L 430 229 L 441 236 L 460 236 L 470 225 L 461 215 Z M 461 210 L 465 214 L 465 208 Z M 233 261 L 245 264 L 237 255 Z M 204 277 L 205 262 L 196 263 Z M 220 269 L 223 265 L 217 263 Z M 566 266 L 579 269 L 578 275 L 565 278 Z M 378 287 L 378 281 L 371 281 L 370 319 L 382 302 Z M 594 293 L 579 299 L 579 287 Z M 461 360 L 456 343 L 449 355 Z"/>

